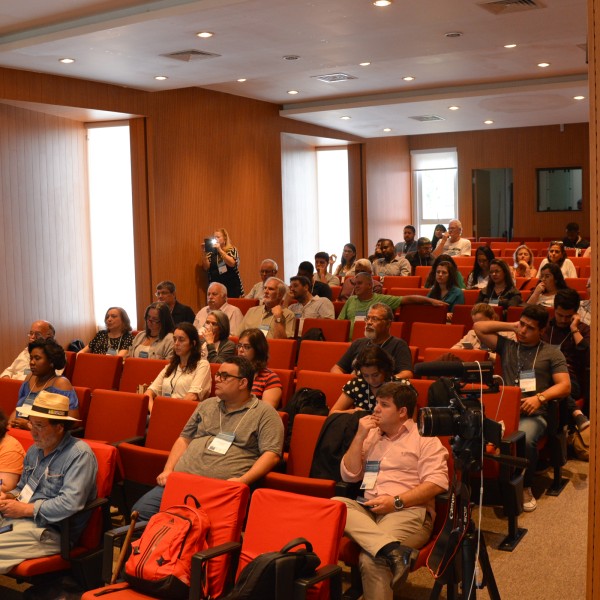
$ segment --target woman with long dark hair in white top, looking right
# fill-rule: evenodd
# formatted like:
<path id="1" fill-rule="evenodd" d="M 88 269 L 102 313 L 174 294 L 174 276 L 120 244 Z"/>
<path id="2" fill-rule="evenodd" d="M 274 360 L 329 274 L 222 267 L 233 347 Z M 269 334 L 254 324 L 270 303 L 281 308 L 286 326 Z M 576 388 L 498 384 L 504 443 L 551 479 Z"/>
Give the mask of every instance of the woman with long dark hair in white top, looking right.
<path id="1" fill-rule="evenodd" d="M 184 400 L 204 400 L 212 381 L 210 366 L 200 358 L 198 330 L 190 323 L 179 323 L 173 333 L 173 356 L 146 390 L 148 410 L 152 412 L 154 398 L 167 396 Z"/>

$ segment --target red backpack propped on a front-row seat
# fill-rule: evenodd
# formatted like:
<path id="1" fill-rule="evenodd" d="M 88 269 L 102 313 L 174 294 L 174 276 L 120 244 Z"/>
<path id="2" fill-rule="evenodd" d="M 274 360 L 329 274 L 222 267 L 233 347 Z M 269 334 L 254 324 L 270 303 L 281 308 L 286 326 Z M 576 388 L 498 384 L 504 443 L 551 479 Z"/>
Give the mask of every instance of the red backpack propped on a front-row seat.
<path id="1" fill-rule="evenodd" d="M 195 506 L 188 506 L 188 499 Z M 205 547 L 210 520 L 191 494 L 184 504 L 155 514 L 131 543 L 125 580 L 134 589 L 157 598 L 187 598 L 192 556 Z"/>

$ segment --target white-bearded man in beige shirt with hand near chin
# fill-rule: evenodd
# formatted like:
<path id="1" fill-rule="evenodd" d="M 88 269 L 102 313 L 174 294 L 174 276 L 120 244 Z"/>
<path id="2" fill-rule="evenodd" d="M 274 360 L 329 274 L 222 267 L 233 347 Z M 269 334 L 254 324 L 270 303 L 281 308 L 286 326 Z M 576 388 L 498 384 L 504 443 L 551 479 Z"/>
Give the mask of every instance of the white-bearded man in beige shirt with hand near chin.
<path id="1" fill-rule="evenodd" d="M 269 277 L 265 282 L 265 296 L 260 306 L 253 306 L 245 314 L 237 331 L 239 335 L 244 329 L 260 329 L 268 338 L 294 337 L 296 318 L 281 303 L 286 294 L 285 283 L 277 277 Z"/>

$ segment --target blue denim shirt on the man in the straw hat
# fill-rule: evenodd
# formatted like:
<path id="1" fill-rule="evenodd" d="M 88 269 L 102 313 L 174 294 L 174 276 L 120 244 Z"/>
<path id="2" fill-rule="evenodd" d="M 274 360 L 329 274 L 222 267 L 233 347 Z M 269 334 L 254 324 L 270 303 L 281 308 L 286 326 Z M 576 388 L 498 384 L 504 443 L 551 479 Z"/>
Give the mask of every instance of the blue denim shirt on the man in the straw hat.
<path id="1" fill-rule="evenodd" d="M 48 456 L 44 456 L 43 450 L 35 445 L 29 448 L 21 479 L 12 494 L 17 496 L 29 483 L 35 489 L 29 500 L 34 505 L 35 524 L 57 529 L 55 524 L 96 498 L 97 470 L 98 463 L 92 449 L 66 432 Z M 71 544 L 79 539 L 89 517 L 89 514 L 82 514 L 73 520 Z"/>

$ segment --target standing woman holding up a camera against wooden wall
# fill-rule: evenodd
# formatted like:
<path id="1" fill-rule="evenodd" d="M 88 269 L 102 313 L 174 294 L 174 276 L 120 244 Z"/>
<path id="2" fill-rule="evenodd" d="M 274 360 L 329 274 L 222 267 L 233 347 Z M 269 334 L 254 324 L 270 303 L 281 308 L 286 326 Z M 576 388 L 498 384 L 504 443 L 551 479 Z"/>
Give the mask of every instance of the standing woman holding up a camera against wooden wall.
<path id="1" fill-rule="evenodd" d="M 208 272 L 208 283 L 222 283 L 227 288 L 228 298 L 244 295 L 244 285 L 238 267 L 240 257 L 231 243 L 226 229 L 217 229 L 210 246 L 202 244 L 202 268 Z"/>

